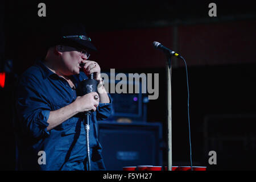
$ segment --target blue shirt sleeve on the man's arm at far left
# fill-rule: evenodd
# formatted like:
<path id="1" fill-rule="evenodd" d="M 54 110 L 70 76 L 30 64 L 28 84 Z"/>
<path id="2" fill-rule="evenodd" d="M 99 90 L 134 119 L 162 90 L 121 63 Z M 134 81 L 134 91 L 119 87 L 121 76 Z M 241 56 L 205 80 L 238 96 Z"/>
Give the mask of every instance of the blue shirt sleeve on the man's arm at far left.
<path id="1" fill-rule="evenodd" d="M 42 138 L 49 135 L 47 122 L 50 107 L 46 97 L 40 93 L 40 83 L 32 78 L 23 78 L 18 84 L 16 94 L 16 113 L 19 126 L 23 133 L 33 138 Z"/>

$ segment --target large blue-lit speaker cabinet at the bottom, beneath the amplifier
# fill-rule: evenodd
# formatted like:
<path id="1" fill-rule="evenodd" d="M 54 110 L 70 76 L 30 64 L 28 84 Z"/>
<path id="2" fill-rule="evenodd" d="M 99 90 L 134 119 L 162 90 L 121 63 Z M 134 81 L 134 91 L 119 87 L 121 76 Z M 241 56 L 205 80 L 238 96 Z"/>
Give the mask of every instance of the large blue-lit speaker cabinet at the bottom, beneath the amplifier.
<path id="1" fill-rule="evenodd" d="M 161 123 L 98 122 L 98 138 L 107 170 L 162 166 Z"/>

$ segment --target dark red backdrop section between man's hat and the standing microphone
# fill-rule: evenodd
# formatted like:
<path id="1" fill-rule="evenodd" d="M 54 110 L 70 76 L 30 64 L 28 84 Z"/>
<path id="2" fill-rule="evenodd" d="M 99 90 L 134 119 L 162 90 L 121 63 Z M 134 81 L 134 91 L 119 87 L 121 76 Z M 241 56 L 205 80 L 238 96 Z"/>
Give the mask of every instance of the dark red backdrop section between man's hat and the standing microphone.
<path id="1" fill-rule="evenodd" d="M 166 58 L 152 42 L 172 47 L 171 27 L 93 32 L 89 36 L 98 49 L 91 59 L 108 69 L 164 67 Z"/>

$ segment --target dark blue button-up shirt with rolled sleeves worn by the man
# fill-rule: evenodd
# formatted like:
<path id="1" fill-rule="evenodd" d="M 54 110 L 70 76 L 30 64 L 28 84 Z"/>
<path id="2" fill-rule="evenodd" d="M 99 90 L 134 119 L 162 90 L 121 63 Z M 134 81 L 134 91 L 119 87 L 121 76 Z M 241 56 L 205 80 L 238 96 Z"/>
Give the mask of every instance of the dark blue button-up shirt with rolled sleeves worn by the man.
<path id="1" fill-rule="evenodd" d="M 85 73 L 80 72 L 72 76 L 72 81 L 77 86 L 86 78 Z M 76 90 L 41 61 L 23 73 L 16 94 L 19 169 L 86 170 L 84 118 L 75 115 L 47 131 L 50 111 L 71 104 L 76 97 Z M 97 120 L 108 118 L 111 109 L 110 98 L 109 104 L 100 103 L 91 114 L 89 144 L 92 170 L 105 169 L 97 139 Z"/>

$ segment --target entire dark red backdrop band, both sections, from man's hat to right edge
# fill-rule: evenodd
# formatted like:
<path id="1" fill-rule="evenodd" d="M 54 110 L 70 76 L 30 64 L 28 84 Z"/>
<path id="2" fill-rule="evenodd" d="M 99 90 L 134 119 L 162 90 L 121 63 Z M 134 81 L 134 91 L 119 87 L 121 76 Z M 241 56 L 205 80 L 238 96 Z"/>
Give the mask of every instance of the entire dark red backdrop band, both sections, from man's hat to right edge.
<path id="1" fill-rule="evenodd" d="M 188 65 L 255 62 L 255 21 L 191 24 L 177 27 L 177 49 Z M 152 46 L 157 41 L 174 49 L 174 27 L 90 32 L 98 53 L 92 60 L 102 68 L 163 68 L 165 56 Z M 184 66 L 183 61 L 178 62 Z"/>

